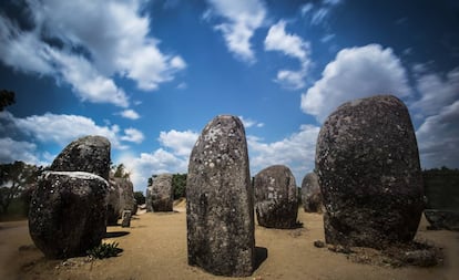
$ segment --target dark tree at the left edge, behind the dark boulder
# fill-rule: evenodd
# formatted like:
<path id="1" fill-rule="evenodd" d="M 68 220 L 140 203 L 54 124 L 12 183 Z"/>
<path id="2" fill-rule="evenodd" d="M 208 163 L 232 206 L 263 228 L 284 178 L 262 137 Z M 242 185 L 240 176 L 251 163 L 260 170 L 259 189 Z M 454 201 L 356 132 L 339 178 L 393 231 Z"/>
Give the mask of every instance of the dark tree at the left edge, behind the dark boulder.
<path id="1" fill-rule="evenodd" d="M 41 167 L 23 162 L 0 165 L 0 207 L 3 214 L 14 198 L 20 198 L 23 190 L 37 183 Z"/>

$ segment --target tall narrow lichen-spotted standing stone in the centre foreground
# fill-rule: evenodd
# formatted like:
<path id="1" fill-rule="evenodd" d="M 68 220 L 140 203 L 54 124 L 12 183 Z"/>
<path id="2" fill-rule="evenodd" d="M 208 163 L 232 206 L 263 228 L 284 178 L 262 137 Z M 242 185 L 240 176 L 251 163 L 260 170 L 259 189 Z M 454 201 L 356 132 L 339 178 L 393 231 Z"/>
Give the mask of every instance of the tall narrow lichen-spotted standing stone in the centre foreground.
<path id="1" fill-rule="evenodd" d="M 239 118 L 221 115 L 203 129 L 186 180 L 188 263 L 230 277 L 254 269 L 254 204 Z"/>

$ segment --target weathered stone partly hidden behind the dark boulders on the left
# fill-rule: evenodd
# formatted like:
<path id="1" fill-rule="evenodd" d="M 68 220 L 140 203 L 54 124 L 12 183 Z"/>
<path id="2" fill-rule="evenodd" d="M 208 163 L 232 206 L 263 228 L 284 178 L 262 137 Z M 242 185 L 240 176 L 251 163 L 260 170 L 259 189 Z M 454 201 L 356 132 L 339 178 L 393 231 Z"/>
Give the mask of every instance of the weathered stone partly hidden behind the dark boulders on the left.
<path id="1" fill-rule="evenodd" d="M 135 214 L 134 210 L 136 211 L 134 186 L 129 178 L 112 176 L 110 176 L 109 183 L 106 222 L 108 225 L 116 225 L 123 210 L 131 210 L 132 214 Z"/>

